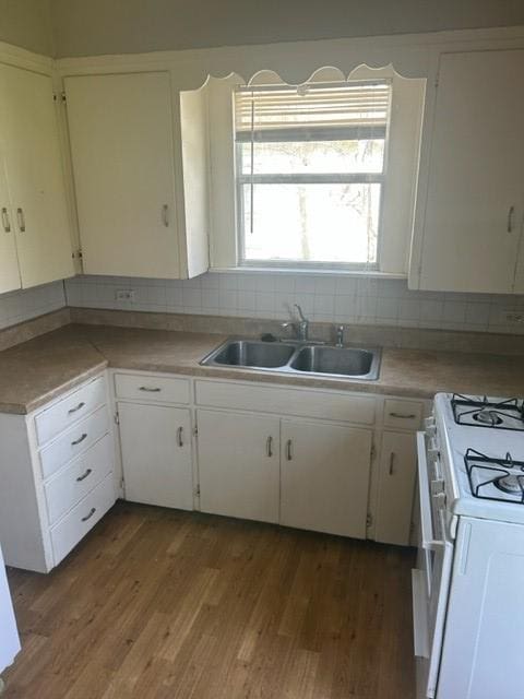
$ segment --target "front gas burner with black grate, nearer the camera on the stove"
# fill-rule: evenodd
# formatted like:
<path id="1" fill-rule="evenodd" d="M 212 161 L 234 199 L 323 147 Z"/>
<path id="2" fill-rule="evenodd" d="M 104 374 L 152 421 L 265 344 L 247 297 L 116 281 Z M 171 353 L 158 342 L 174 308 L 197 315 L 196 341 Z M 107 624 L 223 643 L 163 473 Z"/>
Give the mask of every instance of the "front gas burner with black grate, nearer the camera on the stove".
<path id="1" fill-rule="evenodd" d="M 476 498 L 524 503 L 524 461 L 515 461 L 510 453 L 495 459 L 468 449 L 464 462 Z"/>

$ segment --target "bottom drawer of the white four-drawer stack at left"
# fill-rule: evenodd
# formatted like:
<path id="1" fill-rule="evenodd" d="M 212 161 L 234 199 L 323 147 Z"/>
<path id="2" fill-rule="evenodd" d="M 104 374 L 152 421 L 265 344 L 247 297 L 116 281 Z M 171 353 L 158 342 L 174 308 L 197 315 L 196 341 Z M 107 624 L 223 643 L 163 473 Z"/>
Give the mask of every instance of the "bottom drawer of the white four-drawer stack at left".
<path id="1" fill-rule="evenodd" d="M 56 566 L 112 507 L 115 500 L 115 483 L 112 473 L 110 473 L 61 522 L 51 529 Z"/>

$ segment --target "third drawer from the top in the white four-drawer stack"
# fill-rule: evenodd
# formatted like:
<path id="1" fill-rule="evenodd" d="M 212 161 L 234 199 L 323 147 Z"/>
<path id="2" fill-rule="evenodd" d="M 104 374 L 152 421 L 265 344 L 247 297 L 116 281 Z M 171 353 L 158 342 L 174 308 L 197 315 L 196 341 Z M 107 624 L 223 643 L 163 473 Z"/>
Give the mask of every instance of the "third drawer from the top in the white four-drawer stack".
<path id="1" fill-rule="evenodd" d="M 111 471 L 112 441 L 106 435 L 46 484 L 44 489 L 50 524 L 69 512 Z"/>

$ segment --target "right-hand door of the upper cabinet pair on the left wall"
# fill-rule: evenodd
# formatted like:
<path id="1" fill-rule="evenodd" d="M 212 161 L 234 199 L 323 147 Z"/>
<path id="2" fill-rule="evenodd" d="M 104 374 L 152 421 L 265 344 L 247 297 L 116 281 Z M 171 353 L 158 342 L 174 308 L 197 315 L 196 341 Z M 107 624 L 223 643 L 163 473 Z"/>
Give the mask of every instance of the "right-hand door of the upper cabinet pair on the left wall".
<path id="1" fill-rule="evenodd" d="M 72 276 L 51 78 L 2 64 L 0 96 L 0 149 L 5 159 L 22 286 Z"/>

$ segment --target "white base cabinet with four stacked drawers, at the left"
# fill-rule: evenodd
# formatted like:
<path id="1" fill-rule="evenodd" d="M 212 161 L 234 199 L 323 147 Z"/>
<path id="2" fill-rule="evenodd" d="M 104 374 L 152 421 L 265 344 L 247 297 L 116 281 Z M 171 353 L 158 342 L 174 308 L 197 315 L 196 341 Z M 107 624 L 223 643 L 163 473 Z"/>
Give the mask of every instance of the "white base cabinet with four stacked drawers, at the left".
<path id="1" fill-rule="evenodd" d="M 0 414 L 5 562 L 48 572 L 116 500 L 105 375 L 29 415 Z"/>

